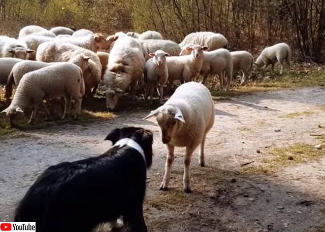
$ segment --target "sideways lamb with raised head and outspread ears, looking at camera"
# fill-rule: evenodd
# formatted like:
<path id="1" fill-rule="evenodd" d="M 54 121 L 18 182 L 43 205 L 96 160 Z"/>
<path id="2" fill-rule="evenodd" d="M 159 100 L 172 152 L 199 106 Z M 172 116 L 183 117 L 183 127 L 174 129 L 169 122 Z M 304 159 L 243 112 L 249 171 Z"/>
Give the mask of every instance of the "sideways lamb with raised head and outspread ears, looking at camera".
<path id="1" fill-rule="evenodd" d="M 169 89 L 171 89 L 173 81 L 183 80 L 190 82 L 196 80 L 200 75 L 203 63 L 203 51 L 208 47 L 200 45 L 189 46 L 186 48 L 190 51 L 190 55 L 167 57 Z"/>

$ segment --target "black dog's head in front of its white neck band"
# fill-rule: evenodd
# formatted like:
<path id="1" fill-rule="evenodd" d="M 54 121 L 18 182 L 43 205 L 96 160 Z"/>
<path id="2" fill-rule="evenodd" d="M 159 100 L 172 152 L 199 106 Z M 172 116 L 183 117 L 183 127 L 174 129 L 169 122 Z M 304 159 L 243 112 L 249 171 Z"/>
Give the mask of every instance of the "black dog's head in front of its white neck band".
<path id="1" fill-rule="evenodd" d="M 124 138 L 131 138 L 142 147 L 146 158 L 147 168 L 149 168 L 152 164 L 152 132 L 141 127 L 123 127 L 111 131 L 104 140 L 110 140 L 114 145 L 118 140 Z"/>

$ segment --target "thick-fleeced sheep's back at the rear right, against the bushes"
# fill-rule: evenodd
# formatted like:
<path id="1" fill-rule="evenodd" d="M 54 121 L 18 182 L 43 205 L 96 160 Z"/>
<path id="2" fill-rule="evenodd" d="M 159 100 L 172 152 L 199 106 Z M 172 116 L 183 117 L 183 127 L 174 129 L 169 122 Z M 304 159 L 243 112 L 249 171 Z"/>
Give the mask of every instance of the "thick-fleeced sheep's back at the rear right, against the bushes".
<path id="1" fill-rule="evenodd" d="M 201 31 L 186 35 L 179 46 L 182 48 L 189 44 L 207 46 L 209 48 L 209 51 L 213 51 L 219 48 L 226 48 L 228 41 L 222 34 L 209 31 Z"/>

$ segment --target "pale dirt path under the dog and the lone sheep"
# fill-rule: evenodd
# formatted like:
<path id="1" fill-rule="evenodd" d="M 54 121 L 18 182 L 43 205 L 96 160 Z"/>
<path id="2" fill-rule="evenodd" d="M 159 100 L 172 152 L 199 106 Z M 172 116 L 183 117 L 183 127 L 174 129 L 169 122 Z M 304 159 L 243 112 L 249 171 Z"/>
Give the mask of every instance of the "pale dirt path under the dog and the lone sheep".
<path id="1" fill-rule="evenodd" d="M 144 206 L 149 230 L 324 231 L 325 156 L 271 175 L 249 172 L 263 158 L 272 157 L 273 147 L 319 143 L 310 134 L 325 134 L 317 127 L 325 124 L 320 107 L 324 96 L 325 89 L 315 87 L 216 102 L 216 121 L 206 142 L 207 167 L 198 167 L 197 152 L 192 158 L 192 194 L 182 191 L 183 148 L 175 152 L 170 190 L 158 191 L 166 150 L 154 120 L 141 120 L 148 110 L 124 111 L 112 120 L 54 126 L 28 132 L 29 137 L 0 141 L 0 220 L 12 220 L 18 201 L 46 167 L 95 156 L 110 146 L 103 139 L 111 129 L 135 125 L 153 130 L 155 138 Z M 241 166 L 250 161 L 255 162 Z"/>

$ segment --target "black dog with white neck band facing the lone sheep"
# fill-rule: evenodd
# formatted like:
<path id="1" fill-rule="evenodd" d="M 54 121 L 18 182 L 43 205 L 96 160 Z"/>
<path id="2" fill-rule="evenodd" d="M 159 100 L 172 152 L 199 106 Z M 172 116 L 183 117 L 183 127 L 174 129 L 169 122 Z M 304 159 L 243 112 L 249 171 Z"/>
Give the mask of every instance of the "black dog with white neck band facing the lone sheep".
<path id="1" fill-rule="evenodd" d="M 142 204 L 152 164 L 152 132 L 115 129 L 99 157 L 46 169 L 20 202 L 15 221 L 36 221 L 39 232 L 89 232 L 123 216 L 131 231 L 147 231 Z"/>

